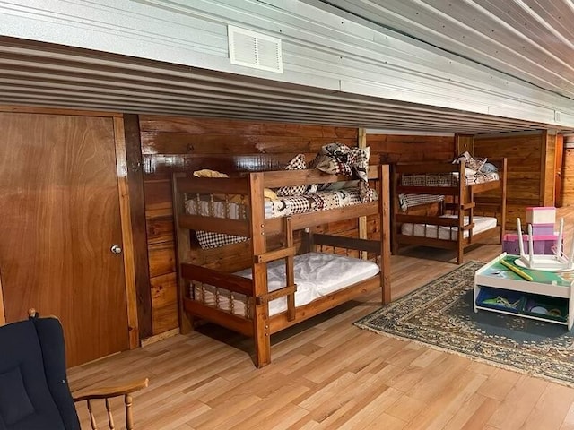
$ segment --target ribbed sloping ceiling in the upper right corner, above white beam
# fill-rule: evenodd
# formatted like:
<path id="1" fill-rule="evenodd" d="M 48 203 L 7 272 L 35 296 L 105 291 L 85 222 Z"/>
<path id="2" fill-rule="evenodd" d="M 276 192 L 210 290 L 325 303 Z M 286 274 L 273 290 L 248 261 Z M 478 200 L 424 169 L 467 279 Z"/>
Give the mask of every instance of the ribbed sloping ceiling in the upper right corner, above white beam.
<path id="1" fill-rule="evenodd" d="M 341 12 L 422 40 L 574 103 L 571 0 L 326 0 Z"/>

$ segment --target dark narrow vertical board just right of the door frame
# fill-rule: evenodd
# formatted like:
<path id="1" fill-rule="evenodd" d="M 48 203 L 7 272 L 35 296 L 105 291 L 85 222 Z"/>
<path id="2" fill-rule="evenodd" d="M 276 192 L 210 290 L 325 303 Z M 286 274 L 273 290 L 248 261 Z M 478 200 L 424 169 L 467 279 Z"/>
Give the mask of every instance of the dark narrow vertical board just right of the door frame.
<path id="1" fill-rule="evenodd" d="M 136 115 L 124 116 L 126 133 L 127 185 L 130 193 L 130 214 L 134 240 L 135 291 L 137 322 L 140 339 L 152 336 L 152 291 L 147 253 L 147 227 L 143 196 L 142 148 L 139 119 Z"/>

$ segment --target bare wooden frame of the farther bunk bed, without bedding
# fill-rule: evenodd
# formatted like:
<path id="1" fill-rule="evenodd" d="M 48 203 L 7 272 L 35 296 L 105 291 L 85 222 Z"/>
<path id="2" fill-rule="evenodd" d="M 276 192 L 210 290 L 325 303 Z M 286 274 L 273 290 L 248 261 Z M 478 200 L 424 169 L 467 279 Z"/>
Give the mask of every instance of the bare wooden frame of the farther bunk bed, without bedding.
<path id="1" fill-rule="evenodd" d="M 507 193 L 507 159 L 488 160 L 498 168 L 499 180 L 483 182 L 474 185 L 465 185 L 465 181 L 458 181 L 457 186 L 404 186 L 401 185 L 402 175 L 425 175 L 425 174 L 452 174 L 457 173 L 459 178 L 465 177 L 465 162 L 460 164 L 452 163 L 417 163 L 417 164 L 395 164 L 391 168 L 392 187 L 392 222 L 391 222 L 391 243 L 393 254 L 398 254 L 401 245 L 424 245 L 435 248 L 454 249 L 457 251 L 457 264 L 463 262 L 465 248 L 492 236 L 498 236 L 502 243 L 506 228 L 506 193 Z M 492 196 L 492 192 L 497 191 L 498 196 Z M 481 197 L 481 193 L 489 193 L 488 196 Z M 415 194 L 435 194 L 450 196 L 449 202 L 440 202 L 440 211 L 452 211 L 456 218 L 439 218 L 439 216 L 412 215 L 402 213 L 398 208 L 397 196 L 400 193 Z M 447 197 L 448 199 L 448 197 Z M 496 214 L 498 224 L 491 228 L 473 234 L 474 212 L 480 209 Z M 468 222 L 465 224 L 465 216 Z M 457 228 L 457 238 L 455 240 L 439 239 L 434 237 L 408 236 L 401 234 L 402 223 L 426 224 L 433 226 L 445 226 Z M 464 237 L 465 231 L 468 236 Z"/>

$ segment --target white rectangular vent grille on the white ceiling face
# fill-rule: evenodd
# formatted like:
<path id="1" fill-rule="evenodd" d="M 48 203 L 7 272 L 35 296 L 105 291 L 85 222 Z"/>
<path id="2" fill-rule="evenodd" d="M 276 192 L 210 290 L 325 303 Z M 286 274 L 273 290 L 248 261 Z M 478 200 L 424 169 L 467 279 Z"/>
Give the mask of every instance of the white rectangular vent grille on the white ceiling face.
<path id="1" fill-rule="evenodd" d="M 283 73 L 281 39 L 228 26 L 231 64 Z"/>

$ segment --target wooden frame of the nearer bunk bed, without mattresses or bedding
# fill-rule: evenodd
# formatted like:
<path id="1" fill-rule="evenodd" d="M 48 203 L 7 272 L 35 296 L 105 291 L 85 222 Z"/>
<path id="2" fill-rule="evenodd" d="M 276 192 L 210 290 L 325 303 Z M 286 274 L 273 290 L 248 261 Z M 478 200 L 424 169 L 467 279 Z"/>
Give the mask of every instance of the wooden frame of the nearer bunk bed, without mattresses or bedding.
<path id="1" fill-rule="evenodd" d="M 262 367 L 271 362 L 270 336 L 273 333 L 376 288 L 380 288 L 382 302 L 384 304 L 390 302 L 389 168 L 387 165 L 370 166 L 368 175 L 369 179 L 376 180 L 378 201 L 333 210 L 300 213 L 284 218 L 265 219 L 264 188 L 332 183 L 347 181 L 349 177 L 327 175 L 316 169 L 265 171 L 248 173 L 241 177 L 216 179 L 175 174 L 173 177 L 173 204 L 177 229 L 180 330 L 182 332 L 191 331 L 194 318 L 199 318 L 253 337 L 255 343 L 254 362 L 257 367 Z M 222 219 L 187 214 L 185 211 L 186 193 L 191 195 L 244 195 L 248 202 L 247 219 Z M 380 240 L 305 232 L 303 235 L 306 240 L 303 240 L 303 244 L 307 245 L 308 250 L 316 249 L 320 245 L 329 247 L 333 252 L 338 248 L 350 249 L 363 258 L 367 254 L 376 254 L 378 255 L 379 273 L 368 280 L 357 282 L 324 297 L 319 297 L 308 305 L 295 307 L 294 293 L 297 286 L 294 283 L 293 259 L 296 254 L 296 247 L 293 245 L 293 231 L 302 228 L 310 231 L 314 226 L 344 219 L 372 217 L 373 215 L 378 217 Z M 359 224 L 361 225 L 361 222 Z M 191 262 L 190 230 L 248 236 L 250 239 L 252 280 L 193 264 Z M 366 236 L 365 233 L 363 232 L 360 236 Z M 274 234 L 283 235 L 283 245 L 268 250 L 265 237 Z M 279 290 L 268 292 L 267 262 L 280 259 L 285 261 L 285 286 Z M 251 319 L 230 314 L 194 300 L 190 297 L 189 292 L 191 282 L 226 288 L 231 292 L 252 297 L 251 303 L 254 305 Z M 270 317 L 268 303 L 283 296 L 287 297 L 287 311 Z"/>

